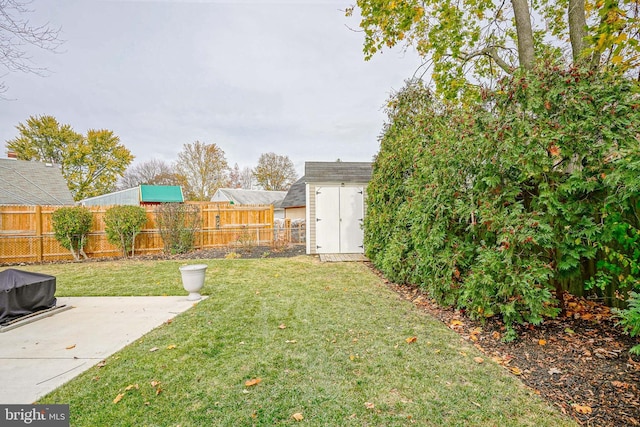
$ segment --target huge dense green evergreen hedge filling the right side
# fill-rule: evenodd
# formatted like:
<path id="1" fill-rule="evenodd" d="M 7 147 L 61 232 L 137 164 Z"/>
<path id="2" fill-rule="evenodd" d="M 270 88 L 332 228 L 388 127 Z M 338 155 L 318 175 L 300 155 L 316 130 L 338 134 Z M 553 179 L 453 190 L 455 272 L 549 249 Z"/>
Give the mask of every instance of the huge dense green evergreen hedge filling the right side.
<path id="1" fill-rule="evenodd" d="M 507 338 L 564 291 L 637 283 L 636 83 L 549 65 L 451 105 L 409 82 L 388 114 L 365 248 L 391 280 L 499 315 Z"/>

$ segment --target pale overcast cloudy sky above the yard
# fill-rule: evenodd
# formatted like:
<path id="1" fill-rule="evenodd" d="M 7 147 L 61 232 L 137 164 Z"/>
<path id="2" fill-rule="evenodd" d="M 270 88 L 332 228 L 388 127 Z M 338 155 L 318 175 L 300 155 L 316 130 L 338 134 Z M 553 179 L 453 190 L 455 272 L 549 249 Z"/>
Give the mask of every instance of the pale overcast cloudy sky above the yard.
<path id="1" fill-rule="evenodd" d="M 59 27 L 64 44 L 28 50 L 45 76 L 0 72 L 0 144 L 51 115 L 79 133 L 113 131 L 132 164 L 172 163 L 196 141 L 231 167 L 285 155 L 299 175 L 305 161 L 371 161 L 385 104 L 420 60 L 393 49 L 365 61 L 351 3 L 34 0 L 25 17 Z"/>

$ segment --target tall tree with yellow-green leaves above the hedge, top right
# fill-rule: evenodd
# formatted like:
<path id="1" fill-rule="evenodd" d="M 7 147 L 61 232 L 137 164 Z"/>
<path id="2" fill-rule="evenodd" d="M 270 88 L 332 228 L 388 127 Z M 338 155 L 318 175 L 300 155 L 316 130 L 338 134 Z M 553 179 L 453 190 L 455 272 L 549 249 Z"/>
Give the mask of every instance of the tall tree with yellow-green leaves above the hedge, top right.
<path id="1" fill-rule="evenodd" d="M 439 94 L 478 94 L 542 59 L 620 71 L 640 64 L 634 0 L 358 0 L 365 58 L 404 44 L 425 59 Z M 535 17 L 535 19 L 532 19 Z"/>

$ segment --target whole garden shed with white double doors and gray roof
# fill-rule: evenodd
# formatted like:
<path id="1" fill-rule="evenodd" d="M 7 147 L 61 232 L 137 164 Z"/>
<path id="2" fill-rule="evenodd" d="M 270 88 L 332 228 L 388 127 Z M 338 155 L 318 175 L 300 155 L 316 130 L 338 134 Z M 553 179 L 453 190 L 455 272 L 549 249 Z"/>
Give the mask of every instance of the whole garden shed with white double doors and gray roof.
<path id="1" fill-rule="evenodd" d="M 307 254 L 364 253 L 371 162 L 306 162 Z"/>

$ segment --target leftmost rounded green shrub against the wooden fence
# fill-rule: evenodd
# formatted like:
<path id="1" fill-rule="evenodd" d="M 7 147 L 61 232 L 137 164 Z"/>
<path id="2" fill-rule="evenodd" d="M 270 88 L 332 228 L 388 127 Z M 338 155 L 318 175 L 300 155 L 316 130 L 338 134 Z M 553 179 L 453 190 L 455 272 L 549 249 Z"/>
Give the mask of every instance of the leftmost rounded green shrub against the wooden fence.
<path id="1" fill-rule="evenodd" d="M 87 259 L 84 245 L 93 222 L 91 211 L 82 206 L 60 208 L 53 212 L 52 222 L 54 236 L 60 245 L 71 251 L 75 260 Z"/>

